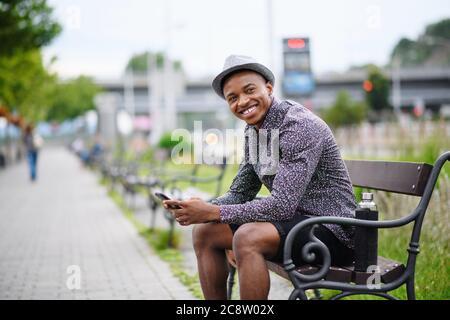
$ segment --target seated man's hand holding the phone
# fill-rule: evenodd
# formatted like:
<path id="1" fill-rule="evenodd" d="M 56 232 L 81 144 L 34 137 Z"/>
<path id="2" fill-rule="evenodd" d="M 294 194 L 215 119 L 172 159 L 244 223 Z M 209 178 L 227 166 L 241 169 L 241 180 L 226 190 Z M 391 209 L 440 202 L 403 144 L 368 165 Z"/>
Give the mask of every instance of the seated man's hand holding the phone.
<path id="1" fill-rule="evenodd" d="M 163 204 L 164 208 L 169 210 L 182 226 L 220 220 L 219 206 L 207 203 L 200 198 L 190 198 L 184 201 L 164 200 Z M 172 205 L 178 205 L 181 209 L 170 209 L 169 206 Z"/>

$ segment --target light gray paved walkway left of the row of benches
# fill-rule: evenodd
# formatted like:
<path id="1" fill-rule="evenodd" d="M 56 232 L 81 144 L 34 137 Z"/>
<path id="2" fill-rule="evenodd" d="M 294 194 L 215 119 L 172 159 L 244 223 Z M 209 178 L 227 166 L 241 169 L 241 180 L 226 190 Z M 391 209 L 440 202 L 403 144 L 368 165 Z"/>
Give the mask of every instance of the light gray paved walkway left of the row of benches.
<path id="1" fill-rule="evenodd" d="M 0 299 L 194 299 L 92 172 L 39 156 L 35 183 L 25 162 L 0 171 Z"/>

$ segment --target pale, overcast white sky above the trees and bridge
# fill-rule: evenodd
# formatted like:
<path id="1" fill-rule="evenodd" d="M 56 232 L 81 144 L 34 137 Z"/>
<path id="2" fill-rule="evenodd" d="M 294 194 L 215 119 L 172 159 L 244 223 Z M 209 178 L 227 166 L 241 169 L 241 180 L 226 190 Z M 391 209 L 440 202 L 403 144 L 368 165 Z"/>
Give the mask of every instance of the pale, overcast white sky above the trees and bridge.
<path id="1" fill-rule="evenodd" d="M 129 58 L 166 51 L 189 78 L 221 71 L 230 54 L 282 69 L 281 41 L 309 37 L 315 73 L 387 63 L 402 38 L 450 18 L 448 0 L 50 0 L 62 34 L 44 51 L 61 77 L 115 79 Z"/>

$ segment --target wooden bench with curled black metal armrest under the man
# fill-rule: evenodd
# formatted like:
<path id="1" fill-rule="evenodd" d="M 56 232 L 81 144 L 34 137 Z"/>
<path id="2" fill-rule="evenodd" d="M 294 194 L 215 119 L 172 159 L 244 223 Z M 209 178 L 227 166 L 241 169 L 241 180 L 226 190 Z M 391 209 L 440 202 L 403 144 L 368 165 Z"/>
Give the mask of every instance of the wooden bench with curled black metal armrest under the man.
<path id="1" fill-rule="evenodd" d="M 319 298 L 318 289 L 333 289 L 340 291 L 332 297 L 333 300 L 351 295 L 369 294 L 386 299 L 396 299 L 388 292 L 406 284 L 408 299 L 415 299 L 414 274 L 416 258 L 419 253 L 419 238 L 423 219 L 430 202 L 430 198 L 439 173 L 446 161 L 450 161 L 450 151 L 442 154 L 434 166 L 426 163 L 386 162 L 346 160 L 345 164 L 350 174 L 353 186 L 365 189 L 382 190 L 392 193 L 420 197 L 417 207 L 407 216 L 397 220 L 367 221 L 339 217 L 314 217 L 297 224 L 288 234 L 284 247 L 284 261 L 274 263 L 267 261 L 269 270 L 283 278 L 290 280 L 294 286 L 289 299 L 306 300 L 305 291 L 314 289 Z M 310 233 L 309 245 L 313 244 L 323 257 L 321 266 L 295 266 L 292 261 L 293 240 L 296 233 L 308 226 L 320 224 L 339 224 L 369 228 L 396 228 L 413 223 L 411 241 L 409 243 L 408 259 L 405 264 L 384 257 L 378 257 L 379 274 L 381 280 L 376 285 L 368 286 L 368 280 L 373 279 L 374 273 L 357 272 L 354 264 L 350 266 L 332 266 L 328 248 L 313 237 L 314 227 Z M 307 245 L 308 245 L 307 244 Z M 228 298 L 231 298 L 236 264 L 231 251 L 227 252 L 230 264 L 228 278 Z M 306 258 L 304 256 L 304 258 Z M 372 277 L 369 279 L 369 277 Z"/>

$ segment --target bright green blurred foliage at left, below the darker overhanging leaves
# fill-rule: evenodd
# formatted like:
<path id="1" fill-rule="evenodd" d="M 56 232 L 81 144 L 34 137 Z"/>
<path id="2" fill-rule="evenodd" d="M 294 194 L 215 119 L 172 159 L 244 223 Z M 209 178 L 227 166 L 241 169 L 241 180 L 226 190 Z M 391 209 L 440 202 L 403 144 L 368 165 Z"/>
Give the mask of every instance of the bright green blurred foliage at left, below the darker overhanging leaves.
<path id="1" fill-rule="evenodd" d="M 100 89 L 93 80 L 58 80 L 47 71 L 39 50 L 0 57 L 0 70 L 0 104 L 28 121 L 63 121 L 95 108 Z"/>

